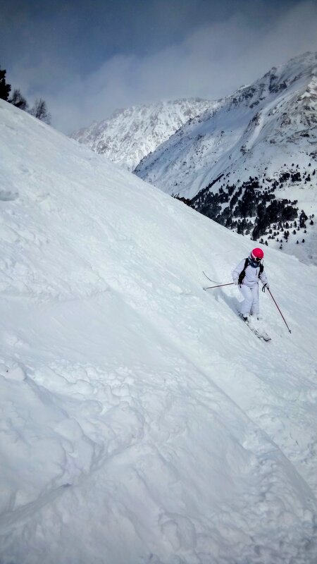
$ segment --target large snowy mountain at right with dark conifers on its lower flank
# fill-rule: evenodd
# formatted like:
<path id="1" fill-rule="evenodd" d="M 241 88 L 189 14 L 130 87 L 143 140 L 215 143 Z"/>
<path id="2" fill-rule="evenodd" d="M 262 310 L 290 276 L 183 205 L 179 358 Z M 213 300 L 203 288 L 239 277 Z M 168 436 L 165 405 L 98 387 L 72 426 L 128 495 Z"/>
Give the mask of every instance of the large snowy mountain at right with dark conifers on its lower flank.
<path id="1" fill-rule="evenodd" d="M 317 264 L 310 225 L 317 212 L 316 69 L 316 53 L 272 68 L 186 123 L 135 172 L 238 233 L 284 250 L 288 241 L 289 252 Z M 298 213 L 284 214 L 289 204 Z M 307 220 L 297 233 L 302 209 Z M 296 247 L 303 235 L 311 242 L 306 252 Z"/>

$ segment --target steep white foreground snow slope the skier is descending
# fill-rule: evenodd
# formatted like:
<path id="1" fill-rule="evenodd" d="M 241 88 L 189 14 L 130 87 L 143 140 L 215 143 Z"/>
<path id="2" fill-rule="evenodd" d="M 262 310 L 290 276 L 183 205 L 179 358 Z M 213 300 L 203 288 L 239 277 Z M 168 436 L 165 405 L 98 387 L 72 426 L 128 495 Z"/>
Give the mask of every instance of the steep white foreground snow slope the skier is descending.
<path id="1" fill-rule="evenodd" d="M 313 564 L 316 267 L 0 100 L 1 564 Z"/>

